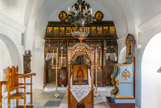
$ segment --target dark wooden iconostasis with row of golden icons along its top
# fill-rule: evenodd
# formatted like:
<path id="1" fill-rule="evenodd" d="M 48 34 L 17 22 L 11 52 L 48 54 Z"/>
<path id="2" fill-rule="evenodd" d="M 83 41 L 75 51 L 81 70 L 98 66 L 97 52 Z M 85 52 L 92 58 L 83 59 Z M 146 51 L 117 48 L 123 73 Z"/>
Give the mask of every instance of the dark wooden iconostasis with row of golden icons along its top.
<path id="1" fill-rule="evenodd" d="M 45 35 L 45 51 L 44 51 L 44 87 L 56 84 L 56 71 L 52 68 L 52 56 L 56 57 L 56 49 L 58 48 L 58 82 L 65 81 L 68 84 L 68 49 L 74 46 L 79 40 L 72 37 L 71 30 L 75 29 L 74 25 L 61 22 L 50 21 L 48 23 Z M 112 63 L 117 62 L 118 46 L 115 26 L 112 21 L 100 21 L 87 25 L 89 33 L 86 43 L 89 47 L 97 48 L 97 84 L 100 87 L 109 86 L 111 84 L 111 74 L 113 72 Z M 85 57 L 83 55 L 75 58 L 74 63 L 84 64 Z M 95 72 L 95 71 L 94 71 Z M 95 74 L 94 74 L 95 77 Z M 95 84 L 95 78 L 94 78 Z M 58 83 L 58 86 L 61 86 Z"/>

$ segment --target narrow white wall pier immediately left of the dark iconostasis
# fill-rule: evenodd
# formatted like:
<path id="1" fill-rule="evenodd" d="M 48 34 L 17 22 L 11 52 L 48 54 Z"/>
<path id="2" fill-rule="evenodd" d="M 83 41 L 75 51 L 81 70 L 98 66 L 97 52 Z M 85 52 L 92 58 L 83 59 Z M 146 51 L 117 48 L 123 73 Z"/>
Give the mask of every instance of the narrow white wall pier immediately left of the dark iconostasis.
<path id="1" fill-rule="evenodd" d="M 35 34 L 36 35 L 36 34 Z M 33 79 L 33 89 L 43 89 L 44 83 L 44 39 L 41 36 L 34 38 L 34 50 L 32 52 L 32 72 L 36 73 Z"/>

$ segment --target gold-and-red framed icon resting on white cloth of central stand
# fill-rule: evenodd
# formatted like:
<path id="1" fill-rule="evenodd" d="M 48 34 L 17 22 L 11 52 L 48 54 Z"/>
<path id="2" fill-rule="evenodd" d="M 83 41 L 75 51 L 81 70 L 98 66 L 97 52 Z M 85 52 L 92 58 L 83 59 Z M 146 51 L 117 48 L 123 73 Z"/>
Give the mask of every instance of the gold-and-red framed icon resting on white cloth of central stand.
<path id="1" fill-rule="evenodd" d="M 73 65 L 73 85 L 88 84 L 88 66 Z"/>

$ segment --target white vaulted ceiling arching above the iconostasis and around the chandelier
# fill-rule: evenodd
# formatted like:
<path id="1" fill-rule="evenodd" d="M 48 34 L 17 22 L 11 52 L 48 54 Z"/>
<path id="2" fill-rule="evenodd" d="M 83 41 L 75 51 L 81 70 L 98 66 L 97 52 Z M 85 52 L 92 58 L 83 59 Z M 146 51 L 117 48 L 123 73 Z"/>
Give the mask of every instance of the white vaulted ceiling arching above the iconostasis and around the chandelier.
<path id="1" fill-rule="evenodd" d="M 57 21 L 60 11 L 77 0 L 0 0 L 0 14 L 26 27 L 26 36 L 44 36 L 48 21 Z M 135 34 L 138 25 L 161 13 L 161 0 L 86 0 L 94 12 L 113 20 L 118 38 Z M 34 33 L 32 33 L 34 32 Z"/>

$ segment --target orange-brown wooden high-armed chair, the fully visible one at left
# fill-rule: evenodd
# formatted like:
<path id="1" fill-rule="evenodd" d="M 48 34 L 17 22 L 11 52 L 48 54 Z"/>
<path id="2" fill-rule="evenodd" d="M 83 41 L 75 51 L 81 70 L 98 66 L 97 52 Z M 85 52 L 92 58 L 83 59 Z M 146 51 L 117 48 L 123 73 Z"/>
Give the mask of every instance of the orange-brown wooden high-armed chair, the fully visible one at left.
<path id="1" fill-rule="evenodd" d="M 12 68 L 8 67 L 8 108 L 10 108 L 10 100 L 16 99 L 16 107 L 24 108 L 33 108 L 32 105 L 32 76 L 35 76 L 35 73 L 31 74 L 18 74 L 18 66 Z M 19 79 L 22 79 L 24 83 L 19 83 Z M 30 78 L 30 83 L 26 83 L 26 78 Z M 26 92 L 26 86 L 30 85 L 30 92 Z M 20 90 L 22 89 L 22 90 Z M 16 93 L 11 93 L 16 91 Z M 30 105 L 26 105 L 26 95 L 30 95 Z M 19 99 L 24 100 L 24 105 L 19 105 Z"/>

